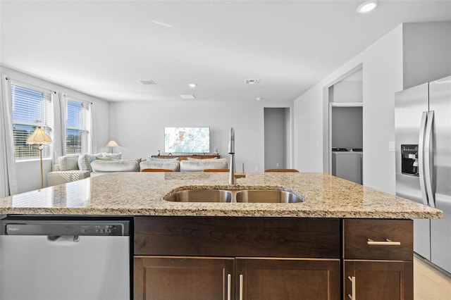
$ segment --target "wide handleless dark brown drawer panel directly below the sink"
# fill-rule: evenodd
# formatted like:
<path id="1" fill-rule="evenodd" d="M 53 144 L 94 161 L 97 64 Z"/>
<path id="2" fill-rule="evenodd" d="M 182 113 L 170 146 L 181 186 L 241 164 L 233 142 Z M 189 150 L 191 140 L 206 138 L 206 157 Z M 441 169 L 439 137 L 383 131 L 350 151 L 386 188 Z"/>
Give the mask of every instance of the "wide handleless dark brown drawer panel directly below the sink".
<path id="1" fill-rule="evenodd" d="M 135 255 L 340 258 L 340 220 L 135 217 Z"/>

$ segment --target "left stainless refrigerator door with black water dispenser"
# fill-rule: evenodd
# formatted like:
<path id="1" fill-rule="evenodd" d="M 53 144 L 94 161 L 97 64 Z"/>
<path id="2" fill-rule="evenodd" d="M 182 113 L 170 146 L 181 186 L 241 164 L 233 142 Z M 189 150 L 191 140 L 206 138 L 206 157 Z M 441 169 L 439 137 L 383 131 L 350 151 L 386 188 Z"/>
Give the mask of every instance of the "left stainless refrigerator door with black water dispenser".
<path id="1" fill-rule="evenodd" d="M 421 123 L 425 121 L 422 116 L 427 111 L 427 83 L 395 94 L 396 194 L 421 204 L 427 204 L 426 192 L 421 192 L 420 180 L 423 178 L 418 172 L 402 172 L 402 145 L 404 153 L 409 150 L 412 152 L 414 146 L 421 150 L 420 132 L 424 132 Z M 419 158 L 418 155 L 416 158 Z M 414 154 L 410 157 L 414 158 Z M 414 220 L 414 251 L 427 259 L 431 259 L 429 225 L 429 220 Z"/>

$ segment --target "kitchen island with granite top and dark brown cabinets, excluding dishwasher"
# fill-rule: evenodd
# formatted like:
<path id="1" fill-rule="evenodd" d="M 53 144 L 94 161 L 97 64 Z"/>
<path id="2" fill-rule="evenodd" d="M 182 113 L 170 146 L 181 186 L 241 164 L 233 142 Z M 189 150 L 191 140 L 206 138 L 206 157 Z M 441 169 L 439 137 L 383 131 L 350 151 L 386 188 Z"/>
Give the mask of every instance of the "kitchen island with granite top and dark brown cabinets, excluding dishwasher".
<path id="1" fill-rule="evenodd" d="M 132 216 L 134 299 L 413 299 L 412 218 L 441 211 L 321 173 L 227 182 L 111 173 L 1 199 L 0 214 Z M 183 189 L 278 189 L 304 201 L 164 200 Z"/>

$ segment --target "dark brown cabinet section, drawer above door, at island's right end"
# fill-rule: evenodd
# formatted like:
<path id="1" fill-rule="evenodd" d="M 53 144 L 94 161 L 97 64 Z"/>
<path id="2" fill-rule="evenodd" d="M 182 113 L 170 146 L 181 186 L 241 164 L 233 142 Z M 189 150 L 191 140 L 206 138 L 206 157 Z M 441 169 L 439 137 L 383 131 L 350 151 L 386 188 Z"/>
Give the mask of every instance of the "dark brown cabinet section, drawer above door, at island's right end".
<path id="1" fill-rule="evenodd" d="M 412 220 L 343 222 L 343 299 L 413 300 Z"/>

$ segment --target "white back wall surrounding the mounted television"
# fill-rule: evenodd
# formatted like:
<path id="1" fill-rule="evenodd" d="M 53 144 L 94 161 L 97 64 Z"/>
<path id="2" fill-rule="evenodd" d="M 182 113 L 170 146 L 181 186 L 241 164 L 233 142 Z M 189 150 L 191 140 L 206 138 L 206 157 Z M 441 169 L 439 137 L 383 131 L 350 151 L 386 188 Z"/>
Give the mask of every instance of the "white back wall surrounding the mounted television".
<path id="1" fill-rule="evenodd" d="M 218 148 L 228 158 L 230 127 L 235 128 L 237 170 L 264 170 L 264 107 L 289 107 L 292 103 L 268 101 L 131 101 L 111 102 L 110 138 L 123 158 L 149 158 L 164 150 L 164 127 L 209 126 L 211 152 Z M 256 170 L 257 169 L 257 170 Z"/>

